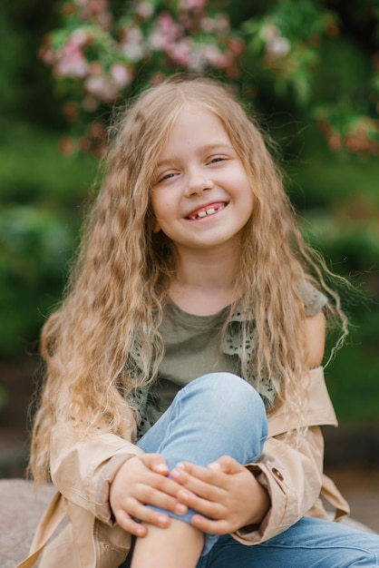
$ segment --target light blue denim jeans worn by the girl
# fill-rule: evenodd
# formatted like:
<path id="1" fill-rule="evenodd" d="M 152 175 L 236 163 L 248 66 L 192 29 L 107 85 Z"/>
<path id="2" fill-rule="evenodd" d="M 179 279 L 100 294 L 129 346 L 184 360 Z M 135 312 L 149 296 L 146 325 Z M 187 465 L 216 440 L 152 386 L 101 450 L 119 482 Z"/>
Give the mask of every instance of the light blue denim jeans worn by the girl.
<path id="1" fill-rule="evenodd" d="M 254 463 L 267 437 L 265 407 L 257 391 L 229 373 L 210 373 L 183 387 L 138 446 L 160 453 L 170 470 L 180 461 L 209 465 L 221 455 Z M 190 522 L 186 515 L 166 512 Z M 371 553 L 369 552 L 371 551 Z M 130 565 L 129 554 L 121 568 Z M 345 525 L 304 518 L 264 544 L 248 546 L 229 535 L 205 535 L 197 568 L 379 567 L 379 536 Z"/>

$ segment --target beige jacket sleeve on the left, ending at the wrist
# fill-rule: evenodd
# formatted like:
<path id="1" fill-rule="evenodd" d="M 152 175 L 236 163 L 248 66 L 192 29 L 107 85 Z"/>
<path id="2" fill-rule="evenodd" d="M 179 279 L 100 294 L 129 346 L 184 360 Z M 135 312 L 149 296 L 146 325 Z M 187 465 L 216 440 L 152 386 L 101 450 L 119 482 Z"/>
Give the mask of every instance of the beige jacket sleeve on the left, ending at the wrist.
<path id="1" fill-rule="evenodd" d="M 70 502 L 112 526 L 110 486 L 121 465 L 141 453 L 119 436 L 92 433 L 83 438 L 68 424 L 55 426 L 50 457 L 53 485 Z"/>

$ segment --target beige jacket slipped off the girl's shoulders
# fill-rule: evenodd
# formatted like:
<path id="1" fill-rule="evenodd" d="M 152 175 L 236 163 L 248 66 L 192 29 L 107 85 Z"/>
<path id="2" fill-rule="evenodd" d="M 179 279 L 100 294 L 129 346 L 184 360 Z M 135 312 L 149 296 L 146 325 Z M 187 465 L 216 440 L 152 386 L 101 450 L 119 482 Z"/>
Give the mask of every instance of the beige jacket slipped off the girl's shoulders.
<path id="1" fill-rule="evenodd" d="M 287 417 L 288 416 L 288 417 Z M 258 464 L 250 465 L 267 487 L 271 508 L 259 527 L 233 534 L 243 544 L 259 544 L 286 530 L 304 515 L 328 518 L 324 496 L 335 507 L 335 520 L 349 513 L 345 499 L 323 475 L 324 440 L 321 425 L 336 426 L 335 411 L 326 390 L 322 367 L 311 371 L 306 436 L 295 449 L 281 440 L 295 418 L 281 407 L 269 418 L 269 436 Z M 291 423 L 292 421 L 292 423 Z M 135 437 L 131 427 L 130 440 Z M 38 525 L 30 556 L 17 568 L 118 568 L 127 556 L 131 536 L 115 524 L 109 490 L 121 465 L 141 450 L 118 436 L 73 439 L 66 427 L 53 432 L 51 471 L 57 493 Z M 46 545 L 64 517 L 63 530 Z"/>

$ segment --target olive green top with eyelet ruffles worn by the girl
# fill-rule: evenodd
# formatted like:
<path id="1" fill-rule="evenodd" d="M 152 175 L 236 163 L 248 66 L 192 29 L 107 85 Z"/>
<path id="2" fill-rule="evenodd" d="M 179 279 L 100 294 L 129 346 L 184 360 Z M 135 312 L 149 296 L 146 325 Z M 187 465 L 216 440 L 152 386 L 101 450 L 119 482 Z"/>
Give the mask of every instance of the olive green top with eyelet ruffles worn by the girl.
<path id="1" fill-rule="evenodd" d="M 302 287 L 300 295 L 306 316 L 315 316 L 327 301 L 310 285 Z M 180 388 L 194 378 L 216 371 L 242 376 L 241 358 L 254 357 L 255 341 L 253 329 L 247 338 L 242 338 L 240 322 L 252 319 L 252 316 L 240 311 L 234 313 L 222 335 L 228 313 L 227 307 L 210 316 L 195 316 L 172 302 L 165 308 L 160 326 L 165 354 L 157 380 L 150 387 L 137 388 L 134 392 L 140 411 L 139 436 L 147 432 L 170 406 Z M 138 365 L 138 361 L 136 363 Z M 248 365 L 248 369 L 244 378 L 258 388 L 266 406 L 272 405 L 276 391 L 271 378 L 260 377 L 257 384 L 254 365 Z"/>

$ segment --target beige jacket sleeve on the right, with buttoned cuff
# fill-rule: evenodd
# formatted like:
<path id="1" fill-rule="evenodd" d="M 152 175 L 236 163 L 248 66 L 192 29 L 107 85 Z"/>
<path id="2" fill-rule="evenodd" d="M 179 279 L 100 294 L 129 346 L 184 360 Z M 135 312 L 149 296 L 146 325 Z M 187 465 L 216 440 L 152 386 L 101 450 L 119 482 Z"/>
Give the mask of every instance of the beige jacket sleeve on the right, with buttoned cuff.
<path id="1" fill-rule="evenodd" d="M 310 372 L 306 433 L 296 445 L 286 434 L 295 429 L 296 416 L 281 408 L 268 420 L 269 437 L 257 464 L 248 469 L 263 485 L 271 506 L 259 526 L 233 534 L 243 544 L 259 544 L 285 531 L 318 501 L 323 485 L 324 438 L 321 425 L 336 426 L 335 412 L 326 390 L 323 369 Z"/>

